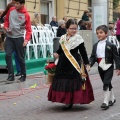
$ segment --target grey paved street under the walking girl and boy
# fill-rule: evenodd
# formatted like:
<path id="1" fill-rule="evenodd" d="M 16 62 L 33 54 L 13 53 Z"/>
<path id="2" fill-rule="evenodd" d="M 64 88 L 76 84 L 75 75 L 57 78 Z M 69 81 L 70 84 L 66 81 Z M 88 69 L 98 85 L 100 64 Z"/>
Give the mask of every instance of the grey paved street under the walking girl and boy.
<path id="1" fill-rule="evenodd" d="M 0 74 L 0 80 L 6 77 L 7 75 Z M 95 101 L 88 105 L 74 105 L 69 111 L 62 110 L 63 104 L 47 101 L 48 88 L 41 84 L 41 81 L 46 82 L 43 74 L 28 76 L 27 81 L 22 84 L 6 85 L 10 89 L 8 92 L 2 90 L 5 85 L 1 82 L 0 88 L 4 87 L 0 89 L 0 120 L 120 120 L 120 77 L 114 75 L 112 83 L 117 102 L 108 110 L 100 108 L 103 93 L 99 75 L 91 72 L 90 79 Z M 35 83 L 39 87 L 34 89 Z M 20 85 L 23 87 L 22 91 Z M 15 86 L 18 87 L 14 91 Z M 29 89 L 30 86 L 33 89 Z"/>

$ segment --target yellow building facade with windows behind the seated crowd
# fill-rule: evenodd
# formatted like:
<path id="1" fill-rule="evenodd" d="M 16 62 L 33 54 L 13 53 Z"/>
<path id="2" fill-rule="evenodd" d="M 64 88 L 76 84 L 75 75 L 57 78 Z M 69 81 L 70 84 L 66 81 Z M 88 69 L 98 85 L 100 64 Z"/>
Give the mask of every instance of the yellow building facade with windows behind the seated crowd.
<path id="1" fill-rule="evenodd" d="M 2 1 L 2 2 L 1 2 Z M 0 8 L 11 0 L 1 0 Z M 42 24 L 50 23 L 52 16 L 57 16 L 57 20 L 64 16 L 67 18 L 81 19 L 84 10 L 92 12 L 92 0 L 26 0 L 25 4 L 31 19 L 34 13 L 40 13 L 40 21 Z M 113 0 L 109 0 L 109 21 L 113 21 Z"/>

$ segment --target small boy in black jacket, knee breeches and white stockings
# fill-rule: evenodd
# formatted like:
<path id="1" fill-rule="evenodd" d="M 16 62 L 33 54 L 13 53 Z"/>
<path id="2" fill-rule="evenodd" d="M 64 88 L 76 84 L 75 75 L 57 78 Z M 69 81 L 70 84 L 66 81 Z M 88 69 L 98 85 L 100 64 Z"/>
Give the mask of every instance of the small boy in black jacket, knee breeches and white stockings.
<path id="1" fill-rule="evenodd" d="M 96 34 L 99 41 L 93 46 L 90 65 L 92 67 L 95 62 L 98 62 L 98 72 L 103 82 L 104 91 L 104 101 L 101 108 L 108 109 L 116 102 L 111 80 L 114 72 L 114 61 L 116 73 L 120 75 L 120 57 L 116 46 L 107 40 L 108 27 L 106 25 L 97 27 Z"/>

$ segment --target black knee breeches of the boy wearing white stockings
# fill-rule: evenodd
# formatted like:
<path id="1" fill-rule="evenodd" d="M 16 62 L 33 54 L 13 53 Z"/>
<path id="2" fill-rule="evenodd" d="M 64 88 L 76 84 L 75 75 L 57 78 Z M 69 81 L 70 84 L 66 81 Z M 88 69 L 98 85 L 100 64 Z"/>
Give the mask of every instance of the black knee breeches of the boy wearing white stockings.
<path id="1" fill-rule="evenodd" d="M 106 91 L 109 88 L 109 91 L 112 89 L 111 80 L 114 72 L 114 65 L 108 68 L 106 71 L 103 71 L 102 68 L 98 66 L 98 71 L 103 82 L 103 90 Z"/>

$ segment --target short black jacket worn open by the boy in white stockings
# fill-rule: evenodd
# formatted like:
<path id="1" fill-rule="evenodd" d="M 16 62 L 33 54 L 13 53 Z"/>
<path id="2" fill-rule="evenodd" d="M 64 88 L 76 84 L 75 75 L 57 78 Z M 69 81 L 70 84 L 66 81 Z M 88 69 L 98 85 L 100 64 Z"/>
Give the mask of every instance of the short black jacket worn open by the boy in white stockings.
<path id="1" fill-rule="evenodd" d="M 99 42 L 99 41 L 98 41 Z M 90 66 L 92 67 L 95 62 L 97 62 L 97 45 L 98 42 L 94 44 L 91 57 L 89 59 Z M 105 46 L 105 63 L 113 64 L 115 61 L 116 69 L 120 70 L 120 57 L 117 52 L 117 48 L 113 43 L 110 43 L 108 40 L 106 41 Z"/>

